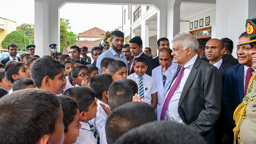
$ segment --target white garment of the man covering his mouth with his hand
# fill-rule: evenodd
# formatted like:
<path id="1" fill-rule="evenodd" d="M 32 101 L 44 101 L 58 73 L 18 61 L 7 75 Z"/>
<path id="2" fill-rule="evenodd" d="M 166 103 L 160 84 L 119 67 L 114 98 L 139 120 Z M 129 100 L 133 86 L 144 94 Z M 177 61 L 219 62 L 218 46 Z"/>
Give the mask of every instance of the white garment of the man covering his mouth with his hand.
<path id="1" fill-rule="evenodd" d="M 155 79 L 155 82 L 157 84 L 157 107 L 156 107 L 157 120 L 160 120 L 160 116 L 163 108 L 163 102 L 165 101 L 165 95 L 168 88 L 171 85 L 173 76 L 177 71 L 177 67 L 178 67 L 178 64 L 175 62 L 172 62 L 172 65 L 166 70 L 165 73 L 163 72 L 161 65 L 154 68 L 152 71 L 152 77 Z M 165 86 L 163 86 L 163 75 L 166 76 Z M 165 120 L 166 120 L 166 117 L 165 117 Z"/>

